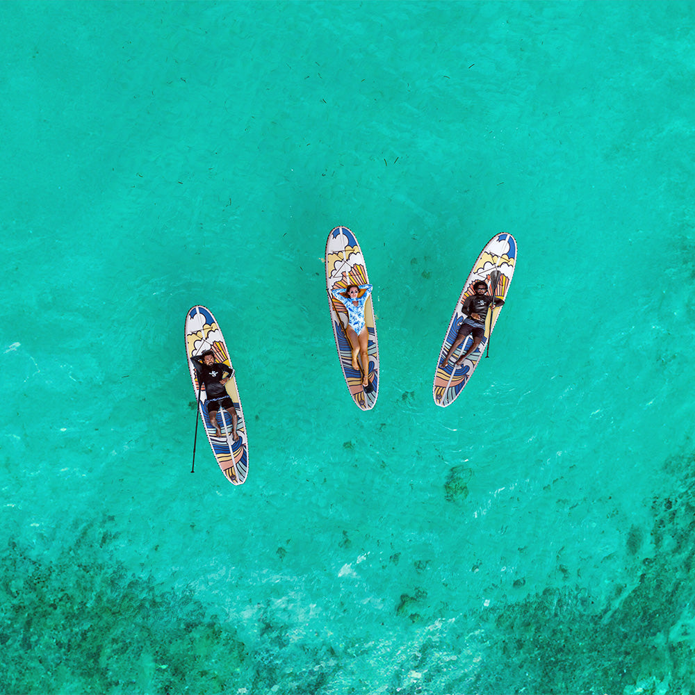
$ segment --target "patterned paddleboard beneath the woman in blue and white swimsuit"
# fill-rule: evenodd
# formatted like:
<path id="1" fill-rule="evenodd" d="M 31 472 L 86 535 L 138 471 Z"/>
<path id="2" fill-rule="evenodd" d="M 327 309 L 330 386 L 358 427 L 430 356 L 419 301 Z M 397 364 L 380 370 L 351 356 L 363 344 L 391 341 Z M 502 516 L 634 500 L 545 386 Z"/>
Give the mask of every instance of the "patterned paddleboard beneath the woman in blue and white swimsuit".
<path id="1" fill-rule="evenodd" d="M 343 272 L 347 278 L 343 277 Z M 357 238 L 347 227 L 336 227 L 331 230 L 326 242 L 326 290 L 328 304 L 331 311 L 333 335 L 336 338 L 338 359 L 345 377 L 345 384 L 350 391 L 352 400 L 358 408 L 370 410 L 377 402 L 379 392 L 379 345 L 377 345 L 377 327 L 374 320 L 373 295 L 370 295 L 364 304 L 364 322 L 369 332 L 368 345 L 368 370 L 371 390 L 365 390 L 362 386 L 362 361 L 357 356 L 358 369 L 352 367 L 352 345 L 347 337 L 347 309 L 345 305 L 332 295 L 332 290 L 347 288 L 348 285 L 366 285 L 367 268 L 364 263 L 362 250 L 357 243 Z M 365 293 L 359 291 L 358 297 Z M 357 347 L 355 345 L 354 347 Z"/>

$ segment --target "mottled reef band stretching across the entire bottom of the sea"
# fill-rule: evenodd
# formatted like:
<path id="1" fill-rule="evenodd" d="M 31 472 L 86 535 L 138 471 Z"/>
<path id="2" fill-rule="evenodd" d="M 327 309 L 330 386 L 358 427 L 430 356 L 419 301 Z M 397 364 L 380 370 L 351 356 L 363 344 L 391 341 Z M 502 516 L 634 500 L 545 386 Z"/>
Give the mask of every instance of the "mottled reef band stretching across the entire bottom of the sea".
<path id="1" fill-rule="evenodd" d="M 384 610 L 413 639 L 384 662 L 382 686 L 399 695 L 695 692 L 695 457 L 665 466 L 679 489 L 652 501 L 648 543 L 648 532 L 626 529 L 624 555 L 635 568 L 629 585 L 616 584 L 600 602 L 591 587 L 566 580 L 455 616 L 435 614 L 441 605 L 429 605 L 427 587 L 404 587 L 400 602 Z M 464 501 L 467 478 L 467 469 L 452 471 L 445 495 Z M 105 560 L 117 534 L 111 518 L 85 523 L 54 560 L 8 542 L 1 552 L 1 692 L 361 692 L 346 667 L 370 659 L 375 647 L 359 630 L 339 645 L 320 637 L 297 643 L 289 637 L 295 626 L 268 603 L 256 613 L 250 648 L 193 591 L 166 589 Z M 433 632 L 437 621 L 441 629 Z"/>

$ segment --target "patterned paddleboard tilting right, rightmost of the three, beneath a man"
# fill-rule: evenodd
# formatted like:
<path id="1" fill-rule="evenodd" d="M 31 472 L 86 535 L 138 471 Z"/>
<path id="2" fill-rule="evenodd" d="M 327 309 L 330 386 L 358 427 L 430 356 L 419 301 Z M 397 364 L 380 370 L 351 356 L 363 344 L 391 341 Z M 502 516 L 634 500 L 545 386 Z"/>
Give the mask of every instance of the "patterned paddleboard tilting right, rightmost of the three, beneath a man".
<path id="1" fill-rule="evenodd" d="M 459 295 L 449 327 L 446 329 L 444 342 L 439 351 L 436 372 L 434 373 L 432 395 L 434 396 L 434 402 L 443 408 L 451 405 L 459 397 L 461 391 L 464 390 L 464 386 L 468 384 L 468 379 L 471 378 L 475 368 L 478 366 L 480 358 L 486 350 L 490 334 L 500 316 L 500 311 L 502 311 L 502 306 L 488 311 L 485 322 L 485 336 L 477 350 L 468 355 L 461 363 L 461 366 L 455 367 L 454 363 L 468 350 L 468 347 L 471 347 L 473 336 L 467 336 L 466 341 L 459 345 L 448 363 L 442 367 L 441 361 L 453 345 L 459 328 L 464 322 L 464 318 L 466 318 L 466 314 L 461 311 L 461 302 L 464 302 L 466 297 L 473 294 L 473 283 L 478 280 L 486 282 L 488 294 L 494 288 L 496 299 L 505 300 L 509 284 L 512 282 L 512 275 L 514 275 L 514 268 L 516 268 L 516 252 L 516 240 L 511 234 L 496 234 L 486 243 L 480 252 L 480 256 L 477 257 L 473 269 L 466 278 L 466 284 L 464 284 L 464 288 L 461 290 L 461 295 Z"/>

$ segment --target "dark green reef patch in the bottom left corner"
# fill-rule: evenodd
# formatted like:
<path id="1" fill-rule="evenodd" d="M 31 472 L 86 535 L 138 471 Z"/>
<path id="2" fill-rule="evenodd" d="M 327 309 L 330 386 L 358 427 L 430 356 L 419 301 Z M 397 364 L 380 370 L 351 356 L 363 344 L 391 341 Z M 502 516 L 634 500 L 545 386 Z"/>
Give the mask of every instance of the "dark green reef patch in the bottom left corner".
<path id="1" fill-rule="evenodd" d="M 54 560 L 2 552 L 0 690 L 227 692 L 247 654 L 192 591 L 163 589 L 108 559 L 113 524 L 88 524 Z"/>

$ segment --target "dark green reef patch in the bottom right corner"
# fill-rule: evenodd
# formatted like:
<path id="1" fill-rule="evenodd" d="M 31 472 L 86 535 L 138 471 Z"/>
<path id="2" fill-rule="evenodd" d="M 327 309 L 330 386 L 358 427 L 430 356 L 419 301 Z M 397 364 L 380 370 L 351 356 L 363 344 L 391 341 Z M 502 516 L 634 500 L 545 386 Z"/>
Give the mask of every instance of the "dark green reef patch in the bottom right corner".
<path id="1" fill-rule="evenodd" d="M 631 584 L 616 584 L 607 605 L 589 589 L 547 588 L 480 615 L 489 630 L 476 692 L 691 693 L 695 610 L 689 577 L 695 558 L 695 454 L 667 461 L 678 491 L 652 502 L 645 534 L 626 532 L 635 559 Z"/>

